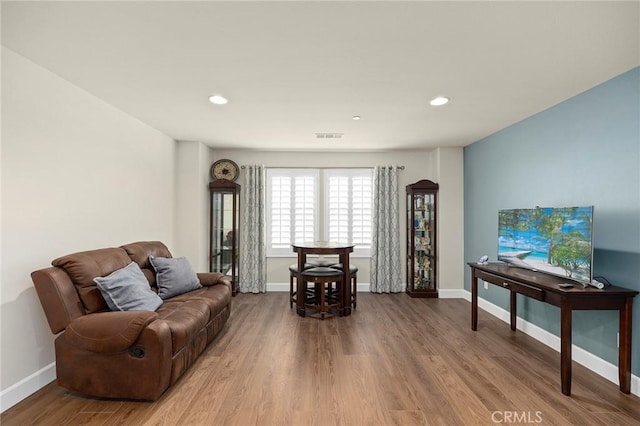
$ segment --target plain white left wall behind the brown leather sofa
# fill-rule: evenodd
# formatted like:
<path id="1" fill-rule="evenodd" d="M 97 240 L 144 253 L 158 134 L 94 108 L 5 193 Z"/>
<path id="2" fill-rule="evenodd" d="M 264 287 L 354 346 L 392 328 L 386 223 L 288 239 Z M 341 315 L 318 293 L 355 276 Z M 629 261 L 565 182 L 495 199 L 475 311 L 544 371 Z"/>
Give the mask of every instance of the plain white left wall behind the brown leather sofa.
<path id="1" fill-rule="evenodd" d="M 30 273 L 80 250 L 171 248 L 174 161 L 171 138 L 2 48 L 0 409 L 55 377 Z"/>

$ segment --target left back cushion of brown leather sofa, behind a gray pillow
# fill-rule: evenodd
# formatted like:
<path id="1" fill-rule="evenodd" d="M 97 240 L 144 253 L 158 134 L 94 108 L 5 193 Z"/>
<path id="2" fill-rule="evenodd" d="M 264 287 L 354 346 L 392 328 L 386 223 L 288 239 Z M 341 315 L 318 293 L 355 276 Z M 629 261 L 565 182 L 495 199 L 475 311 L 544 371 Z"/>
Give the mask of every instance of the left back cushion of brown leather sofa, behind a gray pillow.
<path id="1" fill-rule="evenodd" d="M 127 252 L 121 248 L 104 248 L 69 254 L 54 259 L 51 264 L 65 270 L 78 291 L 86 313 L 109 310 L 100 290 L 93 281 L 95 277 L 109 275 L 131 262 Z"/>

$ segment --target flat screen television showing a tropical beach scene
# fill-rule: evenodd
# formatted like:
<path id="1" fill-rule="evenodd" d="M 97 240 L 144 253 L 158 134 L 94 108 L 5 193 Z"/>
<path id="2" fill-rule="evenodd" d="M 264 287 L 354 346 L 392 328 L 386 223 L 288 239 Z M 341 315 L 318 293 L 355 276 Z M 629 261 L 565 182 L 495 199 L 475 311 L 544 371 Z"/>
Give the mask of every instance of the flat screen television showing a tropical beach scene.
<path id="1" fill-rule="evenodd" d="M 593 206 L 500 210 L 498 260 L 591 283 Z"/>

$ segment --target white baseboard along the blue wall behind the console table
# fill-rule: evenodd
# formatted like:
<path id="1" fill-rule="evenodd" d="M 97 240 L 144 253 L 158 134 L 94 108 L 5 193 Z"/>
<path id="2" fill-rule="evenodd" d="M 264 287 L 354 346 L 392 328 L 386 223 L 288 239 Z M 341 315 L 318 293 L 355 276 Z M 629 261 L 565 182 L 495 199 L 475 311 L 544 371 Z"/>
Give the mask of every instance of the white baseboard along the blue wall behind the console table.
<path id="1" fill-rule="evenodd" d="M 463 298 L 471 302 L 471 292 L 467 290 L 462 291 L 465 293 Z M 478 307 L 490 313 L 494 317 L 501 319 L 507 324 L 511 323 L 511 314 L 509 311 L 502 309 L 481 297 L 478 297 Z M 556 352 L 560 352 L 560 337 L 555 334 L 549 333 L 548 331 L 525 321 L 520 317 L 517 317 L 516 319 L 516 328 L 539 342 L 544 343 Z M 571 345 L 571 357 L 575 362 L 588 368 L 599 376 L 604 377 L 616 385 L 620 384 L 618 380 L 617 365 L 611 364 L 610 362 L 605 361 L 604 359 L 597 357 L 591 352 L 588 352 L 576 345 Z M 640 396 L 640 377 L 633 374 L 631 375 L 631 393 L 636 396 Z"/>

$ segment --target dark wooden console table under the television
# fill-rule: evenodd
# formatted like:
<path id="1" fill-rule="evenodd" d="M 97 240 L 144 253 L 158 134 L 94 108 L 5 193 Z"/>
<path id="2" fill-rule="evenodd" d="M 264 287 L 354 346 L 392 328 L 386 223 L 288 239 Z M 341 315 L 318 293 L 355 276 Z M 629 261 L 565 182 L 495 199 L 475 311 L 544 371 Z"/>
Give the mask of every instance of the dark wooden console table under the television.
<path id="1" fill-rule="evenodd" d="M 560 378 L 562 393 L 571 395 L 571 316 L 574 310 L 617 310 L 620 312 L 618 378 L 620 391 L 631 392 L 631 324 L 635 290 L 608 286 L 602 290 L 569 279 L 509 266 L 504 263 L 471 266 L 471 329 L 478 328 L 478 279 L 511 292 L 511 329 L 516 329 L 518 293 L 560 307 Z M 561 288 L 559 284 L 572 283 Z"/>

